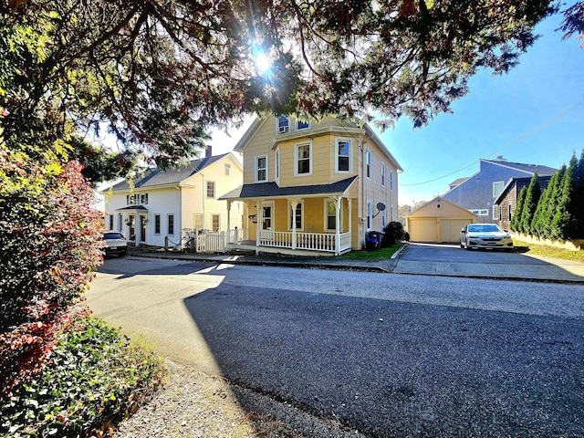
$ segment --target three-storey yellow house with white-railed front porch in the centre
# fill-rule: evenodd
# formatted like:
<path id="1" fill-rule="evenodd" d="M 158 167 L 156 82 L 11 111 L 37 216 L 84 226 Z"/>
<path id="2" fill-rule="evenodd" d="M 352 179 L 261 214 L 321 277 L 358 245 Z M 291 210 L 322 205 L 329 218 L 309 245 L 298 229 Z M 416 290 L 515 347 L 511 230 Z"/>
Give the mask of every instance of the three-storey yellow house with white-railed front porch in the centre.
<path id="1" fill-rule="evenodd" d="M 255 250 L 339 255 L 395 220 L 401 167 L 367 124 L 258 118 L 235 151 L 244 184 L 222 199 L 244 202 Z"/>

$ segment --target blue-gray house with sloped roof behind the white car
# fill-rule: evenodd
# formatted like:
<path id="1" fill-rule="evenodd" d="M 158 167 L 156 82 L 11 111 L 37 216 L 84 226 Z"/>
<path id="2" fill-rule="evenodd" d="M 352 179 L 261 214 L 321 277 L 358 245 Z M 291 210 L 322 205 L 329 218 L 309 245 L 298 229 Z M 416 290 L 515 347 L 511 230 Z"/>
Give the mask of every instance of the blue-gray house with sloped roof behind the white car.
<path id="1" fill-rule="evenodd" d="M 514 178 L 531 178 L 535 172 L 539 176 L 551 176 L 556 171 L 539 164 L 508 162 L 501 156 L 496 160 L 481 159 L 478 172 L 451 183 L 451 189 L 442 197 L 477 214 L 479 223 L 497 224 L 500 214 L 495 201 L 509 181 Z"/>

